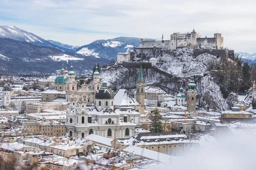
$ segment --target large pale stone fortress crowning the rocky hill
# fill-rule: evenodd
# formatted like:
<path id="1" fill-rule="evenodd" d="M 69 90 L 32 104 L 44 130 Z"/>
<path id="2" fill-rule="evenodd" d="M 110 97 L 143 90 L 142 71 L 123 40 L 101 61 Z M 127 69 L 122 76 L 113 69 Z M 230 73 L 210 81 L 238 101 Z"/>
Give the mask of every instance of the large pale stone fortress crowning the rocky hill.
<path id="1" fill-rule="evenodd" d="M 209 45 L 216 49 L 222 49 L 224 44 L 224 38 L 221 34 L 215 33 L 212 38 L 201 38 L 201 34 L 197 33 L 195 29 L 192 32 L 180 33 L 176 32 L 171 34 L 170 40 L 164 40 L 163 36 L 160 40 L 145 41 L 140 39 L 140 47 L 160 47 L 170 50 L 176 50 L 182 47 L 195 47 L 196 45 Z"/>

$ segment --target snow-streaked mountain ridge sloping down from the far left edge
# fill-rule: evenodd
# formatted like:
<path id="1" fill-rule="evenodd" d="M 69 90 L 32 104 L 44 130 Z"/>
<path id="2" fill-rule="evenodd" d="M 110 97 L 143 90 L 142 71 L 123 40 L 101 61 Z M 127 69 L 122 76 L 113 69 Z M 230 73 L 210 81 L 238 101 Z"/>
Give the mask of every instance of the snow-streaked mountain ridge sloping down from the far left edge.
<path id="1" fill-rule="evenodd" d="M 31 32 L 27 32 L 11 25 L 0 26 L 0 38 L 10 38 L 13 40 L 29 42 L 35 45 L 58 48 L 62 51 L 71 51 L 70 49 L 54 45 Z"/>

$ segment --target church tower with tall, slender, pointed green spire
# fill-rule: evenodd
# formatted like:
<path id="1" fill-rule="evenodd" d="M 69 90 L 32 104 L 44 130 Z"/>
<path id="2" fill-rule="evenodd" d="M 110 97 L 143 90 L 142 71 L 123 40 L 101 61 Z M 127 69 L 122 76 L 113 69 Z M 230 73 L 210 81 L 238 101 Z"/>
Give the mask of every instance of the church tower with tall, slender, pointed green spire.
<path id="1" fill-rule="evenodd" d="M 144 114 L 145 110 L 145 83 L 142 73 L 142 65 L 140 62 L 140 72 L 139 77 L 137 79 L 137 90 L 136 90 L 136 99 L 140 103 L 139 107 L 136 107 L 135 109 L 140 112 L 140 114 Z"/>

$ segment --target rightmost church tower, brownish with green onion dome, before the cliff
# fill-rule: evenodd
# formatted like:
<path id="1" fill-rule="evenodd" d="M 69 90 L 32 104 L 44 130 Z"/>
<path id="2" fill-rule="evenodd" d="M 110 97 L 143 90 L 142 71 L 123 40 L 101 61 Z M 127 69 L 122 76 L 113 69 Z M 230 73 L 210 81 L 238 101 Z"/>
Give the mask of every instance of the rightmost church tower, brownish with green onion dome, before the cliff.
<path id="1" fill-rule="evenodd" d="M 192 74 L 190 76 L 190 82 L 189 82 L 189 90 L 187 92 L 187 110 L 189 112 L 195 112 L 195 97 L 196 97 L 196 91 L 195 91 L 195 81 L 194 81 L 194 75 Z"/>

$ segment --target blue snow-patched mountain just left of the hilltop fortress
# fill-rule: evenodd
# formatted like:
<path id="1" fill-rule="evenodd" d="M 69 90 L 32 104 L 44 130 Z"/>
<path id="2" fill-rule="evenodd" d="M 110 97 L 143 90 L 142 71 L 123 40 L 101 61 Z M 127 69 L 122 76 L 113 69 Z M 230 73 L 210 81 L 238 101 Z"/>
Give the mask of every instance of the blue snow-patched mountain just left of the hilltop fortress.
<path id="1" fill-rule="evenodd" d="M 153 40 L 153 39 L 145 39 Z M 140 38 L 134 37 L 117 37 L 108 40 L 96 40 L 88 45 L 83 45 L 76 49 L 78 54 L 85 56 L 94 56 L 97 58 L 116 59 L 117 53 L 122 53 L 127 48 L 140 46 Z"/>

